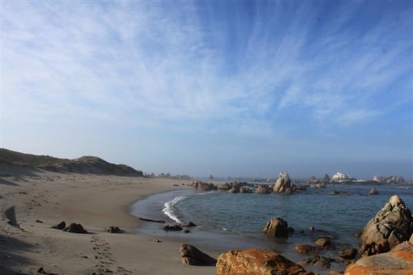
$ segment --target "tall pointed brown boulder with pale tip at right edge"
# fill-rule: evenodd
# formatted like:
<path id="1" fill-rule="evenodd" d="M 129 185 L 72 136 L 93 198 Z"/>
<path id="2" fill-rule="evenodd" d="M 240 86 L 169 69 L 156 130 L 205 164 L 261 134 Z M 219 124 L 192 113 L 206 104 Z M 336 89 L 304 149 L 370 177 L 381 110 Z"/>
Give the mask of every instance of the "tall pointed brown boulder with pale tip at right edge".
<path id="1" fill-rule="evenodd" d="M 360 236 L 361 255 L 387 252 L 413 233 L 413 217 L 399 196 L 393 195 L 388 203 L 363 228 Z"/>

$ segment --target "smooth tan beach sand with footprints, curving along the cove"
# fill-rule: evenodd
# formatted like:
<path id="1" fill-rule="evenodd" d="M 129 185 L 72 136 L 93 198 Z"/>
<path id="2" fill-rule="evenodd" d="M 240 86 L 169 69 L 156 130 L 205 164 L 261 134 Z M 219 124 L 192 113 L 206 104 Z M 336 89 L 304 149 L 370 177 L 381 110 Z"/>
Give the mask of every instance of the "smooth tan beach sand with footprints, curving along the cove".
<path id="1" fill-rule="evenodd" d="M 156 242 L 136 234 L 145 221 L 129 214 L 134 201 L 188 188 L 182 186 L 188 181 L 52 173 L 8 164 L 0 164 L 0 172 L 0 274 L 39 274 L 40 267 L 54 274 L 215 274 L 215 267 L 181 263 L 182 240 L 156 237 L 161 241 Z M 61 221 L 81 223 L 89 234 L 50 228 Z M 126 232 L 107 233 L 110 225 Z"/>

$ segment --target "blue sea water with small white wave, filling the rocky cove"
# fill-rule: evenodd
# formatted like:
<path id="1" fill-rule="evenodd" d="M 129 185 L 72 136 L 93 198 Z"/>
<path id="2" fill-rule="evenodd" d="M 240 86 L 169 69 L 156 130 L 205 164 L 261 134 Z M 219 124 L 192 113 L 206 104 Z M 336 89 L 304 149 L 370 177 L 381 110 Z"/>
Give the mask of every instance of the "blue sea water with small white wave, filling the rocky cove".
<path id="1" fill-rule="evenodd" d="M 379 195 L 368 195 L 372 187 Z M 359 239 L 354 233 L 361 230 L 392 195 L 399 195 L 407 208 L 413 210 L 413 186 L 328 184 L 326 188 L 307 188 L 293 195 L 175 190 L 138 201 L 131 206 L 131 213 L 137 217 L 165 219 L 169 224 L 192 221 L 198 225 L 191 233 L 184 234 L 165 232 L 162 225 L 145 223 L 138 228 L 143 234 L 182 238 L 222 252 L 234 248 L 271 249 L 300 261 L 308 255 L 296 254 L 295 245 L 313 244 L 319 236 L 330 236 L 337 247 L 324 251 L 323 256 L 337 258 L 338 250 L 347 245 L 359 248 Z M 288 239 L 264 236 L 264 225 L 273 217 L 286 220 L 295 232 Z M 308 230 L 312 225 L 315 232 Z M 332 263 L 332 270 L 342 270 L 344 266 Z M 306 268 L 324 273 L 317 268 Z"/>

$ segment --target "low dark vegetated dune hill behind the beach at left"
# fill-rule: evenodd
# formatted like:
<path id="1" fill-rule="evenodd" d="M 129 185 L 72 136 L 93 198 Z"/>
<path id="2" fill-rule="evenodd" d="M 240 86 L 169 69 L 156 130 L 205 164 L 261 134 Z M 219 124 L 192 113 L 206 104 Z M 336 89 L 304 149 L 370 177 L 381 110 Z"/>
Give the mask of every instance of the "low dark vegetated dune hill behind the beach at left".
<path id="1" fill-rule="evenodd" d="M 104 159 L 83 156 L 77 159 L 61 159 L 50 155 L 32 155 L 0 148 L 0 164 L 31 166 L 54 172 L 92 173 L 104 175 L 125 175 L 142 177 L 140 170 L 125 164 L 112 164 Z"/>

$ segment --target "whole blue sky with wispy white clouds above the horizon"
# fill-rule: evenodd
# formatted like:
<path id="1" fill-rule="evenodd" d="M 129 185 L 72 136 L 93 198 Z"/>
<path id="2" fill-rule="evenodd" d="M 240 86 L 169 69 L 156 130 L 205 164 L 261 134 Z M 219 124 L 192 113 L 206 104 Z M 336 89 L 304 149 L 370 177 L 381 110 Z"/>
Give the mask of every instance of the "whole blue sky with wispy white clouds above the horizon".
<path id="1" fill-rule="evenodd" d="M 1 1 L 0 147 L 413 179 L 412 1 Z"/>

